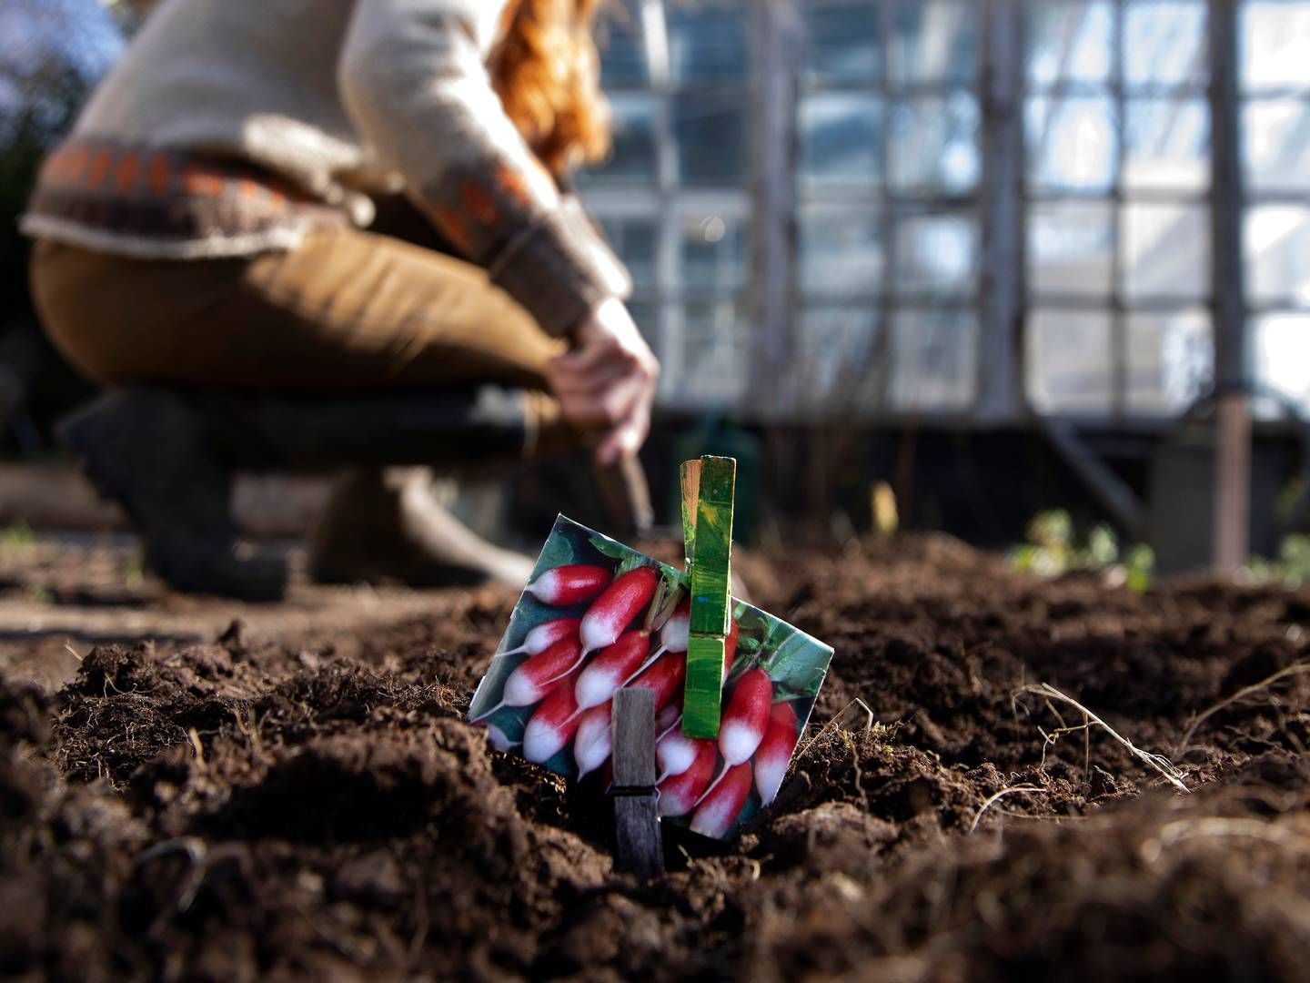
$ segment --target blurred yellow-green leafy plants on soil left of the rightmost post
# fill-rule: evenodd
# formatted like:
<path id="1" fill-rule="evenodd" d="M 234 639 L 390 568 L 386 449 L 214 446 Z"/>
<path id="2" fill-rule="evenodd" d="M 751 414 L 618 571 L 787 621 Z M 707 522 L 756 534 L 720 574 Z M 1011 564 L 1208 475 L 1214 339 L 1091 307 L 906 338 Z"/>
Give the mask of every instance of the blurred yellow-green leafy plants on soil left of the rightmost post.
<path id="1" fill-rule="evenodd" d="M 1104 573 L 1112 582 L 1138 594 L 1150 587 L 1155 569 L 1155 554 L 1150 547 L 1137 543 L 1121 548 L 1119 536 L 1110 526 L 1094 527 L 1079 543 L 1073 516 L 1064 509 L 1035 515 L 1028 523 L 1028 541 L 1011 549 L 1009 561 L 1015 570 L 1039 577 Z"/>

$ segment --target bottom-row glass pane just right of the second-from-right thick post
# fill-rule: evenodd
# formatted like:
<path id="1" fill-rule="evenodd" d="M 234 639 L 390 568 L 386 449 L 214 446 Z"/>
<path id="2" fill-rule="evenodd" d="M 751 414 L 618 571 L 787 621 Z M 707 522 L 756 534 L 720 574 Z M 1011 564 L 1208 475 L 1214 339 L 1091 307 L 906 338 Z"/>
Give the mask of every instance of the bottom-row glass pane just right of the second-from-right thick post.
<path id="1" fill-rule="evenodd" d="M 1114 406 L 1108 312 L 1028 315 L 1028 398 L 1040 413 L 1110 413 Z"/>

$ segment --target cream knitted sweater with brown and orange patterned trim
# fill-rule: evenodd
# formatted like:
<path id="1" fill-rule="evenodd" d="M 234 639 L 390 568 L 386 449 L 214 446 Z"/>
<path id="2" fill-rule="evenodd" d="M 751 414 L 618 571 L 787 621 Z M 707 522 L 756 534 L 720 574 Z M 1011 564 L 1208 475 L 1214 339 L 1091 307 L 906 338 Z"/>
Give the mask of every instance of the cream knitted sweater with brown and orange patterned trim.
<path id="1" fill-rule="evenodd" d="M 625 296 L 629 282 L 493 90 L 486 62 L 504 8 L 165 0 L 69 140 L 84 156 L 88 145 L 131 153 L 93 149 L 81 170 L 69 155 L 52 159 L 24 228 L 127 256 L 200 258 L 292 249 L 313 223 L 313 210 L 292 208 L 162 236 L 105 218 L 122 210 L 89 207 L 191 194 L 194 181 L 169 181 L 176 152 L 249 161 L 362 227 L 371 194 L 405 190 L 546 330 L 567 332 L 600 300 Z"/>

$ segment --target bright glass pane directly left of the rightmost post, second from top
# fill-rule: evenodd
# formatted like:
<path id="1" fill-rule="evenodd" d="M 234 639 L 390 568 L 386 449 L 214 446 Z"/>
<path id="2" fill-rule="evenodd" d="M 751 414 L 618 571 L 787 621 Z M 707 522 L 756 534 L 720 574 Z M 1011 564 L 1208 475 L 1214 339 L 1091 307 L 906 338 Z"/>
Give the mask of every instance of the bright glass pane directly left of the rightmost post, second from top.
<path id="1" fill-rule="evenodd" d="M 1201 191 L 1210 186 L 1210 110 L 1203 100 L 1131 100 L 1124 109 L 1125 187 Z"/>

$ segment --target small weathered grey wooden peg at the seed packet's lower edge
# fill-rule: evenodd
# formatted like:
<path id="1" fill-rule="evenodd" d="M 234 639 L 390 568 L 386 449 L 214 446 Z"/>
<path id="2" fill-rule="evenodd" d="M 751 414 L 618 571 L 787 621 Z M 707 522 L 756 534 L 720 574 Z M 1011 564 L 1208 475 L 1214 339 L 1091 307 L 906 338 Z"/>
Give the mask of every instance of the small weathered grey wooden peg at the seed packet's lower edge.
<path id="1" fill-rule="evenodd" d="M 614 692 L 614 861 L 643 879 L 664 873 L 655 797 L 655 693 Z"/>

